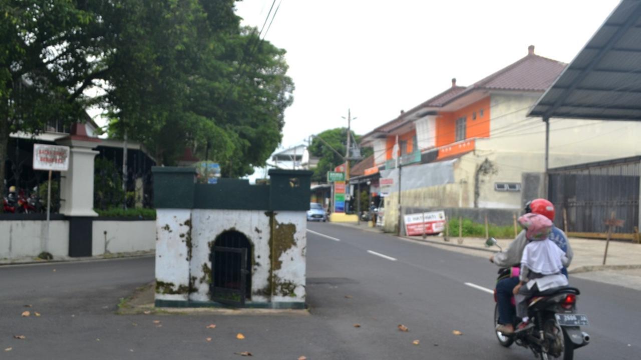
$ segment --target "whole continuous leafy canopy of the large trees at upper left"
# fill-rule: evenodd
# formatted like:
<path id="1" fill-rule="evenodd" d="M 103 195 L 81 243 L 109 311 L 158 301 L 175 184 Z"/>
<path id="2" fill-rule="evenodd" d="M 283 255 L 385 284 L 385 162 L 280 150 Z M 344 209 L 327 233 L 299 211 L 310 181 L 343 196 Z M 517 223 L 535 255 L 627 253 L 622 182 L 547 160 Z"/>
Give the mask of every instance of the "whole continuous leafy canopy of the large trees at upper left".
<path id="1" fill-rule="evenodd" d="M 285 51 L 240 26 L 234 4 L 0 0 L 0 160 L 10 133 L 97 104 L 109 136 L 126 131 L 163 165 L 190 147 L 223 176 L 251 174 L 281 140 L 294 84 Z"/>

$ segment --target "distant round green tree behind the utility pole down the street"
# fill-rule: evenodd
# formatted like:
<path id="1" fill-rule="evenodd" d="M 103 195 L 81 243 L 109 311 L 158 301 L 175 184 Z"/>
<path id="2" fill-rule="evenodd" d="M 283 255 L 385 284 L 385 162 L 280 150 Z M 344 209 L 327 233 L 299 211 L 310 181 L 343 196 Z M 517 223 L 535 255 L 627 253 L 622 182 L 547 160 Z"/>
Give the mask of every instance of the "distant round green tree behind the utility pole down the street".
<path id="1" fill-rule="evenodd" d="M 352 131 L 352 138 L 356 143 L 360 141 L 360 135 L 354 135 Z M 320 139 L 324 140 L 324 142 Z M 312 143 L 310 144 L 309 151 L 312 156 L 319 158 L 319 163 L 314 169 L 314 174 L 312 175 L 312 181 L 326 181 L 327 172 L 333 171 L 338 165 L 345 163 L 344 154 L 347 147 L 347 128 L 346 127 L 337 127 L 335 129 L 329 129 L 319 133 L 313 137 Z M 337 154 L 338 152 L 338 154 Z M 373 153 L 370 147 L 361 149 L 361 157 L 367 158 Z M 356 162 L 350 160 L 350 166 L 353 166 Z"/>

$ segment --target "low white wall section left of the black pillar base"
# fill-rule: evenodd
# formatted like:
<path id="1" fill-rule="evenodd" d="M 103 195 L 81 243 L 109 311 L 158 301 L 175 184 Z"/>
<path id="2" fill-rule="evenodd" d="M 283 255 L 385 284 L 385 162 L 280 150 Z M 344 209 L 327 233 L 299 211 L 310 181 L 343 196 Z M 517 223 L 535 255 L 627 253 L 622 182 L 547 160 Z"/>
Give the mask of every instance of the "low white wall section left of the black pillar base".
<path id="1" fill-rule="evenodd" d="M 52 220 L 49 243 L 46 239 L 47 222 L 42 220 L 0 221 L 0 259 L 38 256 L 48 251 L 53 256 L 69 255 L 69 222 Z"/>

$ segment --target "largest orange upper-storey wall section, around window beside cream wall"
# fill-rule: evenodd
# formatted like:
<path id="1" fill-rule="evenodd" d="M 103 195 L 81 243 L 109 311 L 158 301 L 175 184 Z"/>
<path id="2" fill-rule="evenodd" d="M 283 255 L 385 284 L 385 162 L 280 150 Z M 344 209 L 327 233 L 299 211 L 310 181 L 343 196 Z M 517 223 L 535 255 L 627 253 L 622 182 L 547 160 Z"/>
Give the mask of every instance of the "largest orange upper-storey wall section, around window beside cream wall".
<path id="1" fill-rule="evenodd" d="M 482 117 L 481 109 L 483 109 Z M 474 112 L 476 112 L 476 120 L 472 120 Z M 467 117 L 465 138 L 490 137 L 490 97 L 488 96 L 459 110 L 440 113 L 437 116 L 437 147 L 456 140 L 456 119 L 460 117 Z"/>

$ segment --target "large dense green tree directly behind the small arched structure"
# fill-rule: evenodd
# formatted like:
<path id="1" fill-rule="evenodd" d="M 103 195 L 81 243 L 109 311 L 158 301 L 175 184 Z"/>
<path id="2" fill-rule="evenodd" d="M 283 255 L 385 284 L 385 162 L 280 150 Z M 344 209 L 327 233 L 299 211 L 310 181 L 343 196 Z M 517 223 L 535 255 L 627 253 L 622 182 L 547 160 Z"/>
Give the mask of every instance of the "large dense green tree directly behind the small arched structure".
<path id="1" fill-rule="evenodd" d="M 264 165 L 292 103 L 285 51 L 240 28 L 231 0 L 121 3 L 110 17 L 120 34 L 110 60 L 112 135 L 126 128 L 165 165 L 187 146 L 221 163 L 223 176 Z"/>

